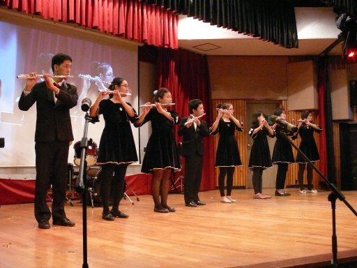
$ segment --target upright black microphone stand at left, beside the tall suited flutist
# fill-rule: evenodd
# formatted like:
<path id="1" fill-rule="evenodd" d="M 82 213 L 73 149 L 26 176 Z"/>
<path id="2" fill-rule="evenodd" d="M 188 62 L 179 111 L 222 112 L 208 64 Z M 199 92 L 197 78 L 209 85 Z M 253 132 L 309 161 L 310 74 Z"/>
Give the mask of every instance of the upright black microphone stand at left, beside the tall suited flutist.
<path id="1" fill-rule="evenodd" d="M 83 193 L 84 190 L 87 188 L 87 183 L 86 183 L 86 177 L 85 172 L 86 172 L 86 149 L 87 149 L 87 144 L 88 144 L 88 124 L 89 121 L 91 121 L 91 117 L 89 116 L 89 112 L 86 111 L 86 116 L 85 118 L 85 123 L 84 123 L 84 134 L 81 140 L 81 161 L 79 164 L 79 181 L 77 181 L 77 187 L 76 191 L 77 193 Z M 83 209 L 83 268 L 88 268 L 88 262 L 87 262 L 87 234 L 86 234 L 86 193 L 83 193 L 83 198 L 82 198 L 82 209 Z"/>

